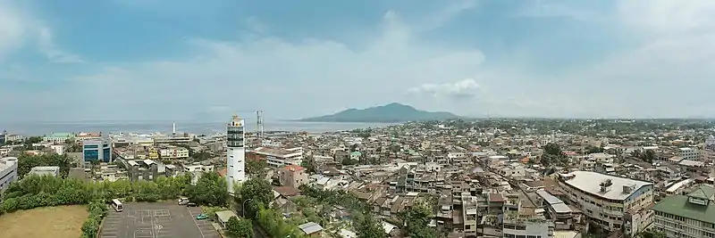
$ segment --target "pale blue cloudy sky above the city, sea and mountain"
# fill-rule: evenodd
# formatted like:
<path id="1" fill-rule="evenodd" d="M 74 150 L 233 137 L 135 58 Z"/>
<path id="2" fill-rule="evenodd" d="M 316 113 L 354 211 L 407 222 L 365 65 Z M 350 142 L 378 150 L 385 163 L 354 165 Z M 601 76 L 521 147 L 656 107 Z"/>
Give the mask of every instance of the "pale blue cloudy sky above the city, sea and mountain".
<path id="1" fill-rule="evenodd" d="M 0 0 L 0 121 L 715 117 L 711 0 Z"/>

